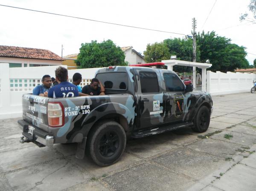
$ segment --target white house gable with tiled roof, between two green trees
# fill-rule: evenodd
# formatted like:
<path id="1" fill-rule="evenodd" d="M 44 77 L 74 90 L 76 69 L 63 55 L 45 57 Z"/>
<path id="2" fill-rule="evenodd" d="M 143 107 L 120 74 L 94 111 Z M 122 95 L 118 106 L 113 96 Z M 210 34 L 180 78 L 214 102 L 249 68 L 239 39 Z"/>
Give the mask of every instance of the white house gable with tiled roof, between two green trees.
<path id="1" fill-rule="evenodd" d="M 121 47 L 121 49 L 125 53 L 125 61 L 128 62 L 128 65 L 146 63 L 143 55 L 134 50 L 132 46 Z"/>

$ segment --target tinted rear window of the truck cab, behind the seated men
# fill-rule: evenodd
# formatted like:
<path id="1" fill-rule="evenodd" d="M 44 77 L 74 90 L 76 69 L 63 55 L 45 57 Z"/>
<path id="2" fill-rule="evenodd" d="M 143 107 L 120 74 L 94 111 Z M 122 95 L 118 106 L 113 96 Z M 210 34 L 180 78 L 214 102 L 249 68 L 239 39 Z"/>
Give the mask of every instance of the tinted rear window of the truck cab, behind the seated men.
<path id="1" fill-rule="evenodd" d="M 97 74 L 96 78 L 106 89 L 127 89 L 127 74 L 125 72 L 111 72 Z"/>

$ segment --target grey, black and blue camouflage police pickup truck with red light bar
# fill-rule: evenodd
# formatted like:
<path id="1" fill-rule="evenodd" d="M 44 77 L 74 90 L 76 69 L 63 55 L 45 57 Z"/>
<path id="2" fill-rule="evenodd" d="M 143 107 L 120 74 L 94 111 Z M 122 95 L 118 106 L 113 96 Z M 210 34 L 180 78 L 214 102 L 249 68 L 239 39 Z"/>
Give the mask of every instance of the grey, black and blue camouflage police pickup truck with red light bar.
<path id="1" fill-rule="evenodd" d="M 192 91 L 173 71 L 159 68 L 110 66 L 96 72 L 104 96 L 47 98 L 24 94 L 20 143 L 39 147 L 78 143 L 100 166 L 115 163 L 127 137 L 140 138 L 191 126 L 207 130 L 212 98 Z M 154 136 L 152 136 L 154 139 Z M 87 152 L 86 152 L 87 153 Z"/>

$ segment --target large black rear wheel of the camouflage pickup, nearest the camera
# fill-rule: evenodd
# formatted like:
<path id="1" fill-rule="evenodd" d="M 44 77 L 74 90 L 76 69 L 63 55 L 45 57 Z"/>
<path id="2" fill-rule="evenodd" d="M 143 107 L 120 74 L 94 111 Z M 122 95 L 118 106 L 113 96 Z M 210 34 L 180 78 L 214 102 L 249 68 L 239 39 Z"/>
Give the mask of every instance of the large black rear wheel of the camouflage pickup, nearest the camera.
<path id="1" fill-rule="evenodd" d="M 92 129 L 88 144 L 90 157 L 97 165 L 112 165 L 125 150 L 125 131 L 115 121 L 104 121 Z"/>

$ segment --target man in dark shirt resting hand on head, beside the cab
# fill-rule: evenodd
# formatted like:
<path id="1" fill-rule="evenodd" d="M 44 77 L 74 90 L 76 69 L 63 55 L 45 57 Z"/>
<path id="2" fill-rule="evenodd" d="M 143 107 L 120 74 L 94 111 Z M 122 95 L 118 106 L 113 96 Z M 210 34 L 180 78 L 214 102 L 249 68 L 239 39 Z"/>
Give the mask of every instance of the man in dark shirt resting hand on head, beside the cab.
<path id="1" fill-rule="evenodd" d="M 93 78 L 90 85 L 84 86 L 82 88 L 82 93 L 88 95 L 105 95 L 104 92 L 105 88 L 97 78 Z"/>

